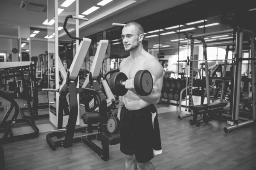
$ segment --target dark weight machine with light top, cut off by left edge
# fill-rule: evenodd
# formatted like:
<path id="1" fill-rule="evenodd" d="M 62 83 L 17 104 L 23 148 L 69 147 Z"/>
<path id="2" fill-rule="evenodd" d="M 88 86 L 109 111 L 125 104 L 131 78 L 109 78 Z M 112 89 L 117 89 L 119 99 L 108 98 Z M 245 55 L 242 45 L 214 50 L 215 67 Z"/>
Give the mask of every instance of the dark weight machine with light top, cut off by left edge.
<path id="1" fill-rule="evenodd" d="M 0 97 L 6 99 L 11 103 L 11 105 L 7 108 L 5 115 L 3 116 L 2 121 L 0 122 L 0 133 L 4 133 L 3 137 L 0 139 L 1 144 L 17 142 L 24 139 L 36 138 L 39 136 L 38 127 L 35 125 L 35 115 L 30 105 L 29 96 L 28 96 L 28 88 L 25 85 L 25 78 L 24 78 L 24 71 L 31 71 L 33 72 L 36 70 L 36 63 L 34 61 L 31 62 L 5 62 L 0 63 L 0 74 L 9 74 L 13 73 L 13 75 L 8 75 L 7 77 L 22 77 L 24 92 L 26 94 L 26 100 L 28 102 L 28 110 L 30 116 L 22 115 L 22 119 L 17 119 L 17 116 L 22 111 L 19 108 L 17 102 L 10 96 L 10 94 L 6 93 L 5 91 L 0 90 Z M 33 73 L 32 73 L 33 74 Z M 2 76 L 2 78 L 5 78 Z M 13 108 L 15 108 L 14 115 L 12 116 L 11 120 L 7 120 L 10 113 L 12 112 Z M 23 135 L 16 135 L 13 134 L 13 127 L 19 123 L 27 123 L 30 127 L 34 130 L 32 133 L 27 133 Z"/>

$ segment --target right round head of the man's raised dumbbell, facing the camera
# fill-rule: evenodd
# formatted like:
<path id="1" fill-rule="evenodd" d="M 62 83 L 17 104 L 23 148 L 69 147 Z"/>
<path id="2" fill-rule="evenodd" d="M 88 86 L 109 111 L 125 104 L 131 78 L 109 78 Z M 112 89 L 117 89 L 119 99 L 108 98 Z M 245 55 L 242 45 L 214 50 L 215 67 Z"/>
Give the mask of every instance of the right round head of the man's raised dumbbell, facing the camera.
<path id="1" fill-rule="evenodd" d="M 134 77 L 134 88 L 140 96 L 148 96 L 153 90 L 153 78 L 148 70 L 139 70 Z"/>

